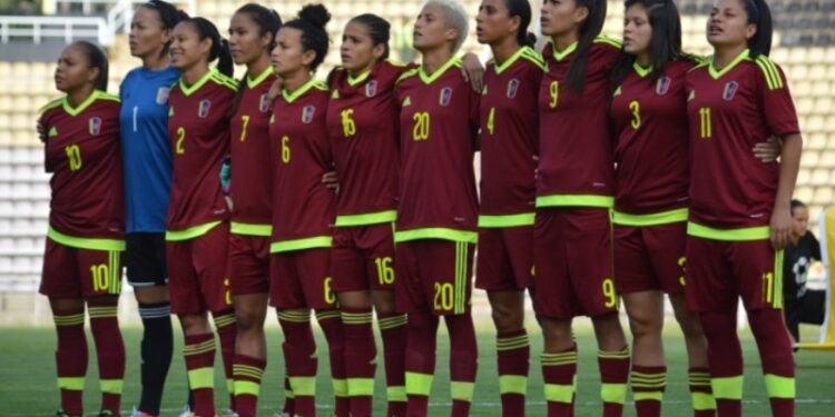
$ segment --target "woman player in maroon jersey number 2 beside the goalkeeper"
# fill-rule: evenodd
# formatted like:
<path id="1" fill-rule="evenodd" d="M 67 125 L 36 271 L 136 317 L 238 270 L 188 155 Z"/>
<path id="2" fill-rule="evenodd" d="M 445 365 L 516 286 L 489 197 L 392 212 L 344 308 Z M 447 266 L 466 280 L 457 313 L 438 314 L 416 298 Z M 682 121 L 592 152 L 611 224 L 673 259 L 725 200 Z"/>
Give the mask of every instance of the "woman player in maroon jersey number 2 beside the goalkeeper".
<path id="1" fill-rule="evenodd" d="M 215 415 L 215 338 L 207 310 L 220 337 L 227 386 L 235 349 L 235 316 L 228 279 L 224 277 L 229 209 L 218 171 L 228 153 L 236 86 L 228 77 L 228 46 L 204 18 L 189 18 L 175 27 L 170 56 L 171 66 L 183 73 L 168 99 L 168 135 L 174 150 L 166 231 L 171 311 L 179 316 L 185 332 L 183 351 L 195 403 L 191 411 L 209 417 Z M 216 59 L 217 69 L 210 69 L 209 62 Z"/>

